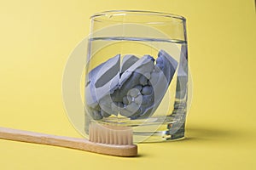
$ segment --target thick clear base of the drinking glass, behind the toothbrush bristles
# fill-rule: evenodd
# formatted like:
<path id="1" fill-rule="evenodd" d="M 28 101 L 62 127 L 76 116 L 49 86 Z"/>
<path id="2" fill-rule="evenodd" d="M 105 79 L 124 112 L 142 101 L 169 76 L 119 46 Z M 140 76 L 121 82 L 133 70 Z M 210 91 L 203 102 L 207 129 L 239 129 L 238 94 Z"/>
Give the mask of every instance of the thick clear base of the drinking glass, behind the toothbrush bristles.
<path id="1" fill-rule="evenodd" d="M 185 118 L 173 116 L 152 116 L 147 119 L 130 120 L 124 117 L 108 117 L 101 121 L 93 121 L 102 125 L 117 125 L 133 129 L 133 142 L 152 143 L 183 139 L 185 133 Z M 90 123 L 88 123 L 90 124 Z M 89 127 L 85 127 L 88 134 Z"/>

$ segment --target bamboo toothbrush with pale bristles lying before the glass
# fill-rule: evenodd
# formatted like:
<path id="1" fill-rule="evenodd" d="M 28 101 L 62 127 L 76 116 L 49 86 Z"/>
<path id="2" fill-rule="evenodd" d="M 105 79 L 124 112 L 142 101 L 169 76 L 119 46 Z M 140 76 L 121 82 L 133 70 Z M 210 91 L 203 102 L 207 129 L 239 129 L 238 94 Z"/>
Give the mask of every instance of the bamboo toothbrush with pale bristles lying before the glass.
<path id="1" fill-rule="evenodd" d="M 131 127 L 113 127 L 92 122 L 89 138 L 87 140 L 0 127 L 0 139 L 49 144 L 110 156 L 137 156 L 137 145 L 132 144 Z"/>

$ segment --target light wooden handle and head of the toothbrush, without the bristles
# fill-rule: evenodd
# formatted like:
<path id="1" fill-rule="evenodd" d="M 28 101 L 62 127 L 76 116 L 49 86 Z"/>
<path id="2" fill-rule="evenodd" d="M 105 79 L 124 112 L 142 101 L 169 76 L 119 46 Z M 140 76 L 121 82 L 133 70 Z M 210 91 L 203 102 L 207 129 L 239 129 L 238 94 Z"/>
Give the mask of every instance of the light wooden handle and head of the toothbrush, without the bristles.
<path id="1" fill-rule="evenodd" d="M 111 156 L 137 156 L 137 145 L 135 144 L 99 144 L 90 142 L 87 139 L 34 133 L 7 127 L 0 127 L 0 139 L 9 139 L 34 144 L 49 144 Z"/>

